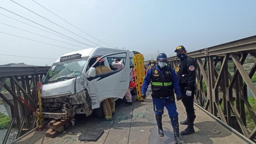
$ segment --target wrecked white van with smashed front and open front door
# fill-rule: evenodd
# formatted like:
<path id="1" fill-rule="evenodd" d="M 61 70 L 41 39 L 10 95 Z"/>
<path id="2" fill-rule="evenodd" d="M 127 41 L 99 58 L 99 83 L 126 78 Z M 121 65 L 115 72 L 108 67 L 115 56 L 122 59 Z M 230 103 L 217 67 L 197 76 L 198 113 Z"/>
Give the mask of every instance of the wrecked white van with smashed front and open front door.
<path id="1" fill-rule="evenodd" d="M 133 69 L 131 50 L 88 48 L 62 55 L 50 68 L 42 84 L 44 118 L 89 116 L 106 98 L 123 98 Z M 101 57 L 96 61 L 97 57 Z M 114 70 L 111 63 L 122 58 L 124 68 Z M 95 67 L 104 59 L 111 72 L 96 74 Z"/>

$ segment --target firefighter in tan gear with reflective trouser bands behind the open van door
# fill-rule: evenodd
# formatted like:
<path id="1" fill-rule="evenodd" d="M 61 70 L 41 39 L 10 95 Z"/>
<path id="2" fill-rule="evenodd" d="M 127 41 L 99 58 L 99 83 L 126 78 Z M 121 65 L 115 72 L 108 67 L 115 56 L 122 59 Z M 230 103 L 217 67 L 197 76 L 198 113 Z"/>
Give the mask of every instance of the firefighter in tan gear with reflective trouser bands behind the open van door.
<path id="1" fill-rule="evenodd" d="M 99 60 L 100 57 L 96 59 Z M 103 74 L 106 72 L 111 72 L 110 68 L 108 66 L 105 66 L 104 64 L 105 60 L 101 59 L 98 61 L 97 67 L 96 67 L 96 74 Z M 107 98 L 103 100 L 102 102 L 102 108 L 103 112 L 105 114 L 106 120 L 112 120 L 112 113 L 115 112 L 115 100 L 114 98 Z"/>

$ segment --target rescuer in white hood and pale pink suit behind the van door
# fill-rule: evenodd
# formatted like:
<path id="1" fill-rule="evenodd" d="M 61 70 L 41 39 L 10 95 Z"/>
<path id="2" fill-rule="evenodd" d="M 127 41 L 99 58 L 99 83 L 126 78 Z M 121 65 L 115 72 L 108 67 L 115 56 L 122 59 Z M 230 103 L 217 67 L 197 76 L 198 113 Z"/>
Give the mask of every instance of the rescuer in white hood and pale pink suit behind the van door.
<path id="1" fill-rule="evenodd" d="M 116 60 L 114 60 L 112 62 L 111 66 L 113 68 L 117 68 L 117 70 L 122 70 L 124 68 L 123 59 L 121 60 L 120 58 L 116 58 Z M 124 106 L 131 106 L 132 105 L 132 94 L 131 94 L 129 88 L 126 91 L 124 97 L 126 99 L 126 104 Z"/>

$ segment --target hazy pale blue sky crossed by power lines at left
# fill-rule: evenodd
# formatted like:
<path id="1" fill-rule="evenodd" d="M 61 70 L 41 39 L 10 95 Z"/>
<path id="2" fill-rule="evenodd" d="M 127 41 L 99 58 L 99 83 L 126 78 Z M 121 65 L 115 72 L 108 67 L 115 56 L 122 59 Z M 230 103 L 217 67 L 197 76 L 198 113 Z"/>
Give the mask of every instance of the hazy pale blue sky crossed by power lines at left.
<path id="1" fill-rule="evenodd" d="M 94 38 L 54 16 L 32 0 L 13 1 L 75 34 L 10 0 L 0 0 L 0 7 L 93 47 L 97 46 L 100 40 L 114 48 L 136 50 L 144 54 L 145 60 L 156 59 L 158 50 L 166 53 L 168 57 L 174 56 L 174 50 L 179 45 L 185 46 L 188 52 L 192 52 L 256 35 L 255 0 L 34 0 Z M 50 66 L 62 54 L 90 47 L 68 40 L 65 36 L 2 8 L 0 8 L 0 54 L 36 58 L 0 55 L 0 65 L 24 62 L 29 65 Z M 98 44 L 110 47 L 102 42 Z"/>

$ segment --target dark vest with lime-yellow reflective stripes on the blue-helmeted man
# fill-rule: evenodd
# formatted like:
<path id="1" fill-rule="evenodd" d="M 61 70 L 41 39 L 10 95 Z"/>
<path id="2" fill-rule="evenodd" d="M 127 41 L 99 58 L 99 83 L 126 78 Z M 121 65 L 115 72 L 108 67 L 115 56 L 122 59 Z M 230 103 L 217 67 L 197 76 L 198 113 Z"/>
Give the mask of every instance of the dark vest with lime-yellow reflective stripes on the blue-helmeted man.
<path id="1" fill-rule="evenodd" d="M 152 96 L 155 98 L 174 97 L 174 87 L 172 85 L 172 72 L 164 70 L 163 74 L 156 70 L 156 66 L 151 68 L 152 73 Z"/>

